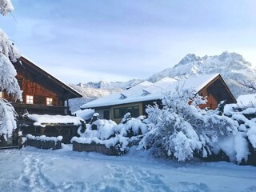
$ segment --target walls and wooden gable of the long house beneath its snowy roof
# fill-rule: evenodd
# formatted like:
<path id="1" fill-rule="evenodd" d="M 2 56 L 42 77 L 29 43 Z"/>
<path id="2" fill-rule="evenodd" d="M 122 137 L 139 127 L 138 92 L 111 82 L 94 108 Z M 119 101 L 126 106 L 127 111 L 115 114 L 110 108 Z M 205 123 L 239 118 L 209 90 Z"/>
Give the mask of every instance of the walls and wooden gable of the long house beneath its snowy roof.
<path id="1" fill-rule="evenodd" d="M 228 86 L 222 79 L 221 75 L 217 75 L 214 79 L 207 83 L 201 90 L 198 91 L 198 94 L 202 95 L 202 97 L 207 98 L 207 103 L 205 105 L 201 105 L 201 108 L 208 108 L 210 110 L 215 110 L 218 107 L 218 103 L 226 100 L 226 103 L 236 103 L 236 99 L 234 98 L 233 94 L 230 92 Z M 143 101 L 143 102 L 131 102 L 125 104 L 119 104 L 114 106 L 102 106 L 102 107 L 95 107 L 95 113 L 100 114 L 99 118 L 106 118 L 104 112 L 108 111 L 109 119 L 114 120 L 114 122 L 121 122 L 122 118 L 115 117 L 114 110 L 124 108 L 128 109 L 128 107 L 138 106 L 138 115 L 134 116 L 134 118 L 138 117 L 139 115 L 146 115 L 146 106 L 153 105 L 154 102 L 157 102 L 158 105 L 161 107 L 162 102 L 161 99 L 157 100 L 150 100 L 150 101 Z M 130 112 L 126 110 L 126 112 Z M 123 114 L 123 113 L 122 113 Z"/>

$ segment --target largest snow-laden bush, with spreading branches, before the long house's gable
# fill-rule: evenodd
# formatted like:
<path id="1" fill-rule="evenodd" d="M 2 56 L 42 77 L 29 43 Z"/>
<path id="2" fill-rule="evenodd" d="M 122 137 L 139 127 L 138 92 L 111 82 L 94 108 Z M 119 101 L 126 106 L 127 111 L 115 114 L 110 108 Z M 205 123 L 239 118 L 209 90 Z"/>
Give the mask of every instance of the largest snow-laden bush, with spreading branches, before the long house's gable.
<path id="1" fill-rule="evenodd" d="M 216 144 L 219 139 L 236 131 L 233 121 L 219 116 L 214 111 L 206 111 L 198 105 L 205 104 L 194 90 L 182 90 L 163 94 L 162 109 L 158 105 L 149 106 L 147 123 L 150 131 L 140 142 L 140 148 L 154 148 L 178 161 L 186 161 L 195 154 L 206 158 L 218 153 Z"/>

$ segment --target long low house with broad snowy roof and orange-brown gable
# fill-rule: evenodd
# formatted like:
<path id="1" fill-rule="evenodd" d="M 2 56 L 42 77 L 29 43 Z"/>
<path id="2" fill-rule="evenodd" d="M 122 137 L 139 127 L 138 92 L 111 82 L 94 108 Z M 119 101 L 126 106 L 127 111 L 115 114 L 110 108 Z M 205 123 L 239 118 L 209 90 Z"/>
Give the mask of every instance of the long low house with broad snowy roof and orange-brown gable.
<path id="1" fill-rule="evenodd" d="M 112 119 L 118 123 L 127 112 L 130 112 L 134 118 L 146 115 L 146 106 L 153 105 L 154 102 L 161 105 L 162 92 L 174 91 L 176 86 L 194 88 L 198 94 L 207 97 L 206 105 L 200 106 L 202 108 L 214 110 L 223 100 L 226 100 L 226 103 L 236 103 L 236 99 L 221 75 L 208 74 L 181 81 L 164 78 L 155 83 L 142 82 L 121 94 L 110 94 L 88 102 L 81 106 L 81 109 L 94 109 L 95 113 L 100 115 L 99 118 Z"/>

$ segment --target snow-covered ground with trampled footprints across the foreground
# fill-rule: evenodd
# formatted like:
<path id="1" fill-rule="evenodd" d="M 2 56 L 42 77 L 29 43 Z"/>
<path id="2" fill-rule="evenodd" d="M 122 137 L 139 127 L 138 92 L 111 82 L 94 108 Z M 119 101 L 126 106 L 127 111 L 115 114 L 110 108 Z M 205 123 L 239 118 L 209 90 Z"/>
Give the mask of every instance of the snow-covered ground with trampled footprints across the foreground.
<path id="1" fill-rule="evenodd" d="M 131 149 L 122 157 L 62 150 L 0 150 L 0 191 L 256 191 L 256 167 L 176 162 Z"/>

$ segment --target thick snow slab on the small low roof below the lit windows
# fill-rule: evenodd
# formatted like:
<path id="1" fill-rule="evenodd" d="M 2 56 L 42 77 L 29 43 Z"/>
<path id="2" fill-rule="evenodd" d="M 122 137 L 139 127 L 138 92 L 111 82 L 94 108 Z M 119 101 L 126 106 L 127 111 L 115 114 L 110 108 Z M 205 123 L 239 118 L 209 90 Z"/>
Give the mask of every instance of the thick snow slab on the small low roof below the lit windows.
<path id="1" fill-rule="evenodd" d="M 28 118 L 34 121 L 34 126 L 45 126 L 45 124 L 74 124 L 80 126 L 84 120 L 80 117 L 70 115 L 50 115 L 50 114 L 28 114 Z"/>

